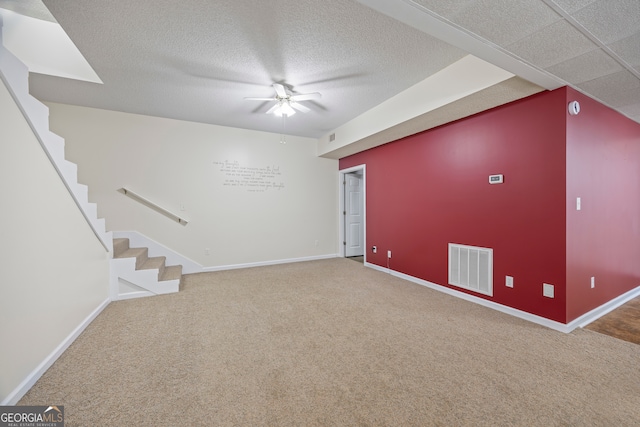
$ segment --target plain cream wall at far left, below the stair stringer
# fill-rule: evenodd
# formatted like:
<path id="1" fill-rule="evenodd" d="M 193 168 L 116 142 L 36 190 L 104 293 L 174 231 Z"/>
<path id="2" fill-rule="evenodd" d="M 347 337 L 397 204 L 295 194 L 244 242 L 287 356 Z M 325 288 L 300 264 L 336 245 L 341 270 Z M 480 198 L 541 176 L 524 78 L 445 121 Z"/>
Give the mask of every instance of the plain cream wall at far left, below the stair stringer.
<path id="1" fill-rule="evenodd" d="M 0 402 L 109 294 L 109 254 L 0 83 Z"/>

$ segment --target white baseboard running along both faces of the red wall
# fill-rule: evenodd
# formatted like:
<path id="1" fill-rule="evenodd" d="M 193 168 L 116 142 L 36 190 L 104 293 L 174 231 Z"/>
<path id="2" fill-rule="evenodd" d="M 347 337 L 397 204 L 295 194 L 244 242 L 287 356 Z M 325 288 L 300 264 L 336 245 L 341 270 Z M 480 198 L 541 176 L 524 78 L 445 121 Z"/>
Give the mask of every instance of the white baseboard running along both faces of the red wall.
<path id="1" fill-rule="evenodd" d="M 508 307 L 506 305 L 498 304 L 493 301 L 488 301 L 484 298 L 479 298 L 474 295 L 456 291 L 455 289 L 447 288 L 445 286 L 438 285 L 437 283 L 432 283 L 427 280 L 419 279 L 417 277 L 413 277 L 408 274 L 400 273 L 385 267 L 380 267 L 379 265 L 365 262 L 365 266 L 373 268 L 374 270 L 382 271 L 383 273 L 389 273 L 392 276 L 399 277 L 401 279 L 416 283 L 418 285 L 426 286 L 438 292 L 442 292 L 442 293 L 454 296 L 456 298 L 461 298 L 463 300 L 470 301 L 470 302 L 482 305 L 484 307 L 488 307 L 493 310 L 497 310 L 502 313 L 509 314 L 511 316 L 518 317 L 520 319 L 527 320 L 529 322 L 533 322 L 538 325 L 545 326 L 547 328 L 554 329 L 556 331 L 564 332 L 564 333 L 569 333 L 578 327 L 582 328 L 586 326 L 588 323 L 596 320 L 601 316 L 604 316 L 611 310 L 614 310 L 615 308 L 620 307 L 625 302 L 630 301 L 631 299 L 640 295 L 640 286 L 638 286 L 637 288 L 632 289 L 629 292 L 623 295 L 620 295 L 619 297 L 614 298 L 611 301 L 601 305 L 600 307 L 597 307 L 591 310 L 590 312 L 578 317 L 577 319 L 565 324 L 565 323 L 556 322 L 554 320 L 550 320 L 541 316 L 537 316 L 535 314 L 527 313 L 526 311 Z"/>

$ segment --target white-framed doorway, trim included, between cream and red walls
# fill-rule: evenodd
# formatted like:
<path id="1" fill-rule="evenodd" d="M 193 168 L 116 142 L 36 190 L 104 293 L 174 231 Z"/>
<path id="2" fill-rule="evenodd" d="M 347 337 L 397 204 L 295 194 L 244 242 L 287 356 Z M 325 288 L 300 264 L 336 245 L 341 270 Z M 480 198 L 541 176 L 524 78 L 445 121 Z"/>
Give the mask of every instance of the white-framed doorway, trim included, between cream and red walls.
<path id="1" fill-rule="evenodd" d="M 340 171 L 340 255 L 366 263 L 366 170 Z"/>

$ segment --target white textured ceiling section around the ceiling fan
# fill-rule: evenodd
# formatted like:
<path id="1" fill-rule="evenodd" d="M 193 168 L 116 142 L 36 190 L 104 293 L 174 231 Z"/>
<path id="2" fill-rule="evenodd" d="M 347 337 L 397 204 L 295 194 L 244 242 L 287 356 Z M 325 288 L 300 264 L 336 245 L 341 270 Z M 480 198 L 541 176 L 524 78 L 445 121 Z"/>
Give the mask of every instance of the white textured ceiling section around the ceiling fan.
<path id="1" fill-rule="evenodd" d="M 104 85 L 34 75 L 49 101 L 282 131 L 274 82 L 320 92 L 286 133 L 319 137 L 462 58 L 355 1 L 48 1 Z M 384 29 L 381 31 L 381 29 Z"/>

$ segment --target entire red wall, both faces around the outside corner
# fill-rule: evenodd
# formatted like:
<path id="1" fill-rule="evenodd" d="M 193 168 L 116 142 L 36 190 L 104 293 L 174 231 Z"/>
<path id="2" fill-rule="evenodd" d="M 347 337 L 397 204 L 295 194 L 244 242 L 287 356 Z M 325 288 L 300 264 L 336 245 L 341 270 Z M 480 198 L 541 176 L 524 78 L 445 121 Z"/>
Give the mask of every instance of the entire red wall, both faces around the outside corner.
<path id="1" fill-rule="evenodd" d="M 583 97 L 569 116 L 577 96 L 536 94 L 341 159 L 367 168 L 367 262 L 563 324 L 638 287 L 640 125 Z M 493 249 L 492 296 L 448 284 L 449 243 Z"/>

